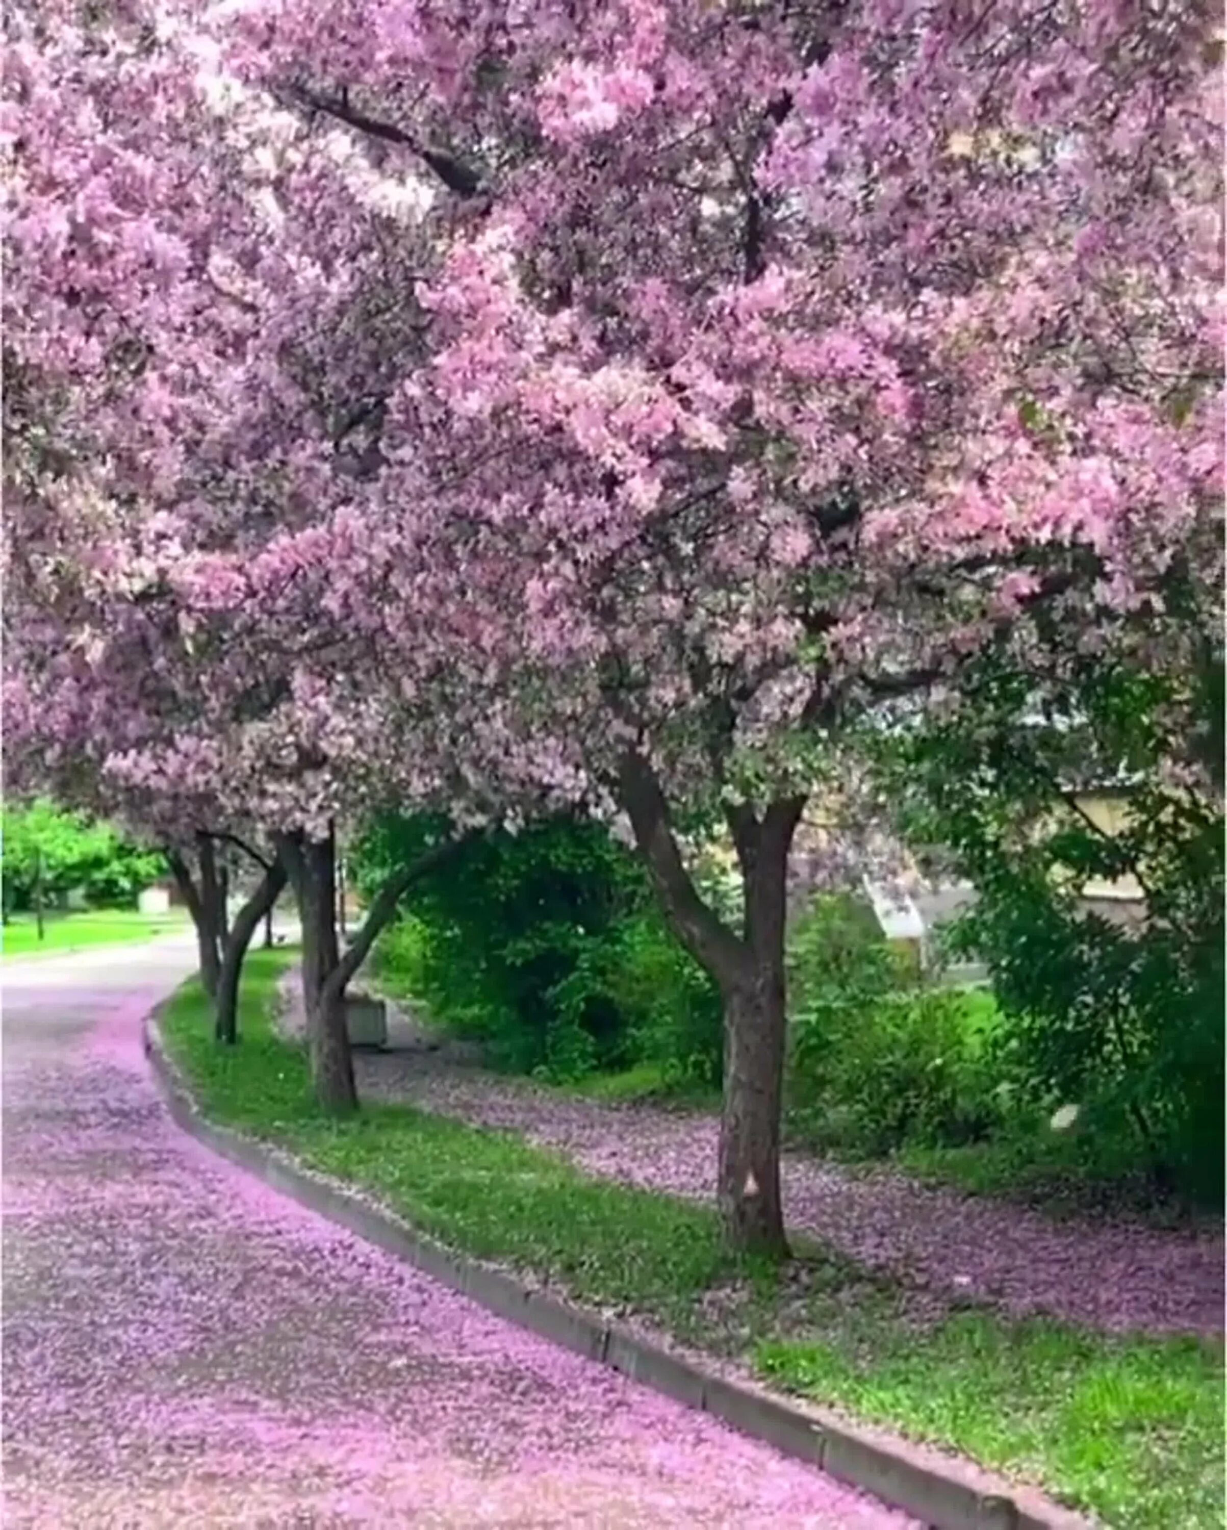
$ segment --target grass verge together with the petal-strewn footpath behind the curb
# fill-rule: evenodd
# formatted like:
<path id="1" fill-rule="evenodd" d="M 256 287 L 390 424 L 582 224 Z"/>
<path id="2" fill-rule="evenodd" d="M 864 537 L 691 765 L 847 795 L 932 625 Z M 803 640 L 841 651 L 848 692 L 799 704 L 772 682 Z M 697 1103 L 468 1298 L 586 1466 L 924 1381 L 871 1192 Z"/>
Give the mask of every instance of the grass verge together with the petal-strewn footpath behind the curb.
<path id="1" fill-rule="evenodd" d="M 167 1042 L 205 1109 L 421 1230 L 646 1323 L 711 1363 L 972 1457 L 1132 1530 L 1218 1522 L 1222 1235 L 1046 1218 L 793 1155 L 800 1258 L 719 1242 L 714 1120 L 490 1074 L 415 1034 L 358 1057 L 364 1109 L 311 1103 L 291 953 L 255 953 L 243 1040 L 188 984 Z M 402 1017 L 404 1019 L 404 1017 Z"/>

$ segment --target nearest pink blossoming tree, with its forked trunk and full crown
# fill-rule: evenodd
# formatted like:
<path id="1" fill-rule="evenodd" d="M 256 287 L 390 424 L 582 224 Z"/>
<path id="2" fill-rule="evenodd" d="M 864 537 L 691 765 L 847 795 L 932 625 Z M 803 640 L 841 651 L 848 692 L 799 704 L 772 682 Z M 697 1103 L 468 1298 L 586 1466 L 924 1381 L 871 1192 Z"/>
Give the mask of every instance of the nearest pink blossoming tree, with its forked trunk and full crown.
<path id="1" fill-rule="evenodd" d="M 785 866 L 822 742 L 1020 606 L 1094 633 L 1161 600 L 1218 505 L 1209 23 L 291 0 L 226 43 L 433 177 L 430 353 L 346 508 L 350 618 L 483 698 L 471 744 L 629 814 L 725 998 L 730 1238 L 780 1247 Z M 679 851 L 696 802 L 740 929 Z"/>

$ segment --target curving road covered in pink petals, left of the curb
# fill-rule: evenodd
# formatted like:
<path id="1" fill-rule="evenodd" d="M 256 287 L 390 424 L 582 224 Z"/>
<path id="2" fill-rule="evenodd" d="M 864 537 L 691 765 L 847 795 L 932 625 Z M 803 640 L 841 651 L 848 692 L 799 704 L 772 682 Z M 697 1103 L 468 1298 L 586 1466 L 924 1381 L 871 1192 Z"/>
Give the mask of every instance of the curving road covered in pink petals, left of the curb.
<path id="1" fill-rule="evenodd" d="M 5 972 L 6 1530 L 909 1524 L 205 1154 L 139 1050 L 190 965 Z"/>

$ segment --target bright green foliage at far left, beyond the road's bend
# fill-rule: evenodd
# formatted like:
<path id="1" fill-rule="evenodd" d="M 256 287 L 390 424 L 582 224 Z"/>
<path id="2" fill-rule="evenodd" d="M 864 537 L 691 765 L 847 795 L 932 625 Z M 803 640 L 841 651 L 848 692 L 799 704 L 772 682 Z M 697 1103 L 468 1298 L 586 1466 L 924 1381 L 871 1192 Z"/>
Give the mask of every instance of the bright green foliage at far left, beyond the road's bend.
<path id="1" fill-rule="evenodd" d="M 159 852 L 127 843 L 107 823 L 44 797 L 23 806 L 5 803 L 6 909 L 29 907 L 38 881 L 47 901 L 80 887 L 93 904 L 125 904 L 164 871 Z"/>

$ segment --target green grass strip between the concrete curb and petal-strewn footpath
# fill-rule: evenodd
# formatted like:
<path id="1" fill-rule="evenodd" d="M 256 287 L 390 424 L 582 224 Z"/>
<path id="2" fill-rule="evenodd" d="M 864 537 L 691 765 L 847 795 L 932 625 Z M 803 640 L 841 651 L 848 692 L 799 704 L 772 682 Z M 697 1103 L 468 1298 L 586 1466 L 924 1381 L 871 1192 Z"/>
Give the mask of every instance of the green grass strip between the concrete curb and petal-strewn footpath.
<path id="1" fill-rule="evenodd" d="M 170 1053 L 214 1118 L 376 1192 L 454 1248 L 643 1313 L 779 1388 L 1040 1483 L 1120 1530 L 1222 1522 L 1218 1345 L 973 1308 L 926 1320 L 903 1287 L 840 1256 L 739 1264 L 707 1207 L 587 1178 L 514 1134 L 407 1106 L 327 1120 L 303 1051 L 271 1027 L 289 955 L 249 958 L 237 1048 L 213 1043 L 194 981 L 164 1011 Z"/>

